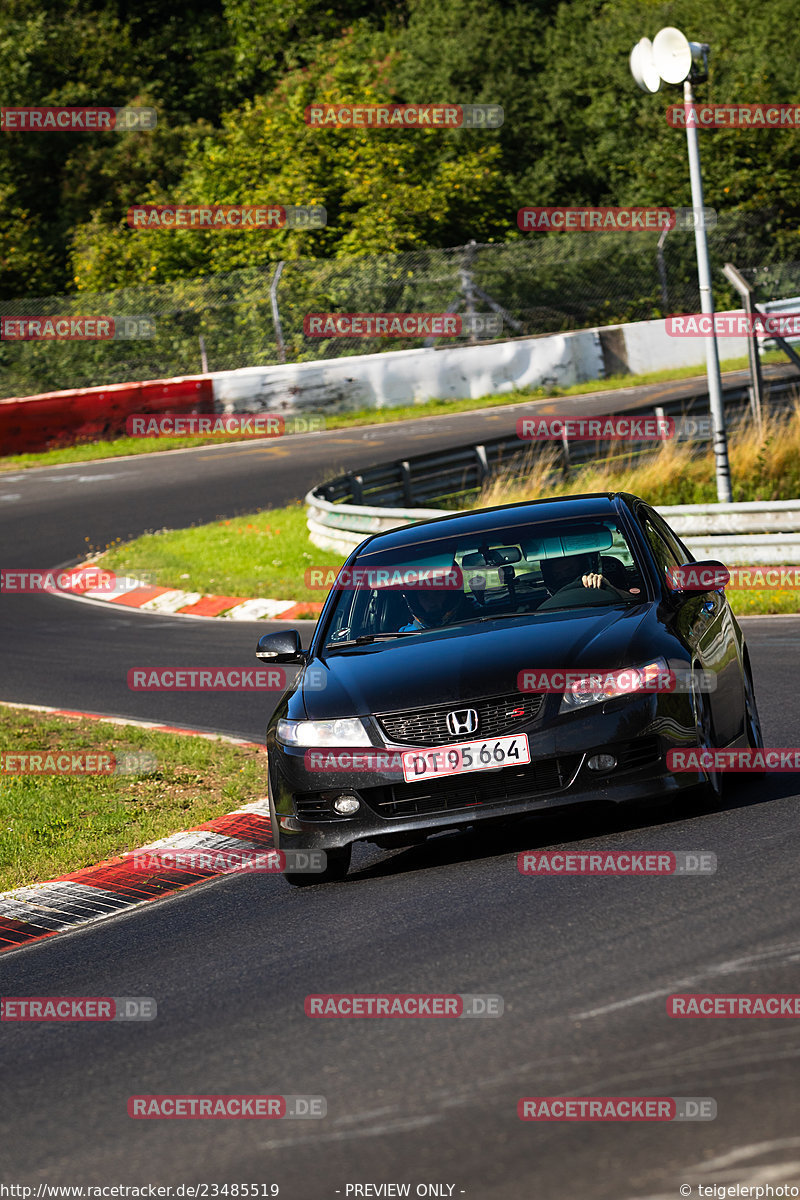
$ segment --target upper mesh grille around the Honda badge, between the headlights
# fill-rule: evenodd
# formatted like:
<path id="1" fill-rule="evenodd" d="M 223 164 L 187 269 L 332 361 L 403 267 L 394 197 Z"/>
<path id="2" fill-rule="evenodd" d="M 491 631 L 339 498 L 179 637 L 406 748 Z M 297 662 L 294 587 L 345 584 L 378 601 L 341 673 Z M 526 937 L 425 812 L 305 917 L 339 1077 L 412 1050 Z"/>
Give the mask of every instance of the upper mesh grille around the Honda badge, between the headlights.
<path id="1" fill-rule="evenodd" d="M 440 746 L 451 742 L 476 742 L 528 725 L 539 715 L 545 702 L 542 692 L 493 696 L 488 700 L 453 701 L 449 704 L 432 704 L 429 708 L 410 708 L 403 713 L 377 713 L 377 720 L 390 742 L 408 743 L 414 746 Z M 474 708 L 477 728 L 474 733 L 458 737 L 447 728 L 447 713 L 459 708 Z"/>

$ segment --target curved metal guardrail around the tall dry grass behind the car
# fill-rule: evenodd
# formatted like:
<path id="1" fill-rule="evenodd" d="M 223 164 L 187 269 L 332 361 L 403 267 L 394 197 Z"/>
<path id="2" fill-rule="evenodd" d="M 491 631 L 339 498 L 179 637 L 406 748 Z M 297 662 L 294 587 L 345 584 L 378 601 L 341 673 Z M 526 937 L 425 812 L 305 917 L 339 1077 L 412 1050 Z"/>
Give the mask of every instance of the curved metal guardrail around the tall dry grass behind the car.
<path id="1" fill-rule="evenodd" d="M 790 386 L 786 384 L 782 390 L 788 394 Z M 748 400 L 746 386 L 735 391 L 738 395 L 732 390 L 726 396 L 726 416 L 733 419 L 732 424 L 746 414 L 744 402 Z M 660 412 L 680 415 L 679 404 L 686 410 L 685 401 L 673 401 L 664 402 Z M 557 470 L 559 466 L 567 470 L 597 457 L 589 442 L 571 443 L 569 448 L 549 444 L 557 448 Z M 652 451 L 648 446 L 620 457 L 630 458 L 631 452 Z M 369 534 L 458 511 L 453 502 L 476 493 L 500 470 L 521 470 L 529 454 L 530 443 L 509 434 L 338 475 L 306 496 L 309 538 L 323 550 L 349 554 Z M 417 506 L 425 500 L 450 506 Z M 697 558 L 730 564 L 800 563 L 800 500 L 679 504 L 657 506 L 657 511 Z"/>

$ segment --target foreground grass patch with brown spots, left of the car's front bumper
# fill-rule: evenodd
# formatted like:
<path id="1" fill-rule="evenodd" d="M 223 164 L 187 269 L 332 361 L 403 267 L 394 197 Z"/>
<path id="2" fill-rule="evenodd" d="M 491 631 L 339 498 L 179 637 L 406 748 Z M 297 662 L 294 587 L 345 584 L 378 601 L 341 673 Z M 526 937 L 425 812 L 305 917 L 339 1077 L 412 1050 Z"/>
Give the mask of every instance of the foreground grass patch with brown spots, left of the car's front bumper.
<path id="1" fill-rule="evenodd" d="M 0 750 L 149 751 L 148 775 L 0 775 L 0 892 L 94 866 L 265 794 L 265 755 L 206 738 L 0 707 Z"/>

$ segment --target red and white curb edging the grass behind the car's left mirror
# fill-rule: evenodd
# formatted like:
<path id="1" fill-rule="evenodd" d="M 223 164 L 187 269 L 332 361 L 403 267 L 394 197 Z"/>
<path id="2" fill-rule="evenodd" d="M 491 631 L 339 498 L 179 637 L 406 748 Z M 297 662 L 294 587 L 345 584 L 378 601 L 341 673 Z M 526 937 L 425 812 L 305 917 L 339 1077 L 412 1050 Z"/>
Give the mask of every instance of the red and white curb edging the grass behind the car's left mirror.
<path id="1" fill-rule="evenodd" d="M 84 563 L 80 570 L 102 564 Z M 319 614 L 323 605 L 317 600 L 269 600 L 242 596 L 216 596 L 200 592 L 182 592 L 180 588 L 156 588 L 132 576 L 118 575 L 114 588 L 90 588 L 73 572 L 76 581 L 70 588 L 60 588 L 58 595 L 71 600 L 91 600 L 139 608 L 176 617 L 222 617 L 225 620 L 302 620 L 301 613 Z"/>

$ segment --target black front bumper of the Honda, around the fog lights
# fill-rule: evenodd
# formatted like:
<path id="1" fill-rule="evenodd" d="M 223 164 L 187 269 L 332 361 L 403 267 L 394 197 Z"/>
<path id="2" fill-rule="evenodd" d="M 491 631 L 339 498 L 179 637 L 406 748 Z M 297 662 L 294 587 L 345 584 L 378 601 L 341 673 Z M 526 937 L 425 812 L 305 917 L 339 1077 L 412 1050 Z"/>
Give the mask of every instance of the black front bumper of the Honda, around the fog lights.
<path id="1" fill-rule="evenodd" d="M 507 820 L 569 804 L 669 797 L 704 781 L 702 772 L 673 775 L 666 766 L 668 750 L 696 744 L 686 696 L 621 697 L 549 725 L 534 722 L 521 732 L 527 733 L 530 746 L 528 767 L 405 784 L 402 770 L 325 769 L 331 757 L 339 757 L 337 751 L 325 750 L 312 758 L 306 749 L 276 743 L 270 731 L 276 842 L 283 850 L 332 850 L 354 841 L 403 845 L 437 829 Z M 372 748 L 372 754 L 378 749 Z M 409 749 L 397 743 L 380 748 L 386 762 Z M 365 752 L 361 750 L 361 755 Z M 587 763 L 594 754 L 613 754 L 618 767 L 607 773 L 590 770 Z M 341 757 L 347 761 L 347 756 Z M 361 799 L 354 816 L 333 811 L 332 798 L 342 792 Z"/>

